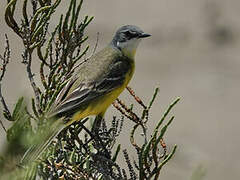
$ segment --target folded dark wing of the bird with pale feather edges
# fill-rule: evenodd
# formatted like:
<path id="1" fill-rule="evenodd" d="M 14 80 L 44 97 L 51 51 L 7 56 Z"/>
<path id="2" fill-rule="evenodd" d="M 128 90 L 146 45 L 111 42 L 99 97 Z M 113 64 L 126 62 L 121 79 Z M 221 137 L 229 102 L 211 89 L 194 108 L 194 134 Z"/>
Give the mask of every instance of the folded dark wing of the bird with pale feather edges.
<path id="1" fill-rule="evenodd" d="M 87 106 L 90 101 L 120 87 L 130 68 L 130 62 L 127 60 L 116 60 L 111 63 L 107 73 L 103 74 L 102 77 L 98 77 L 91 82 L 80 83 L 78 87 L 69 94 L 65 92 L 67 96 L 54 108 L 52 115 L 71 115 L 75 113 L 76 110 L 81 109 L 81 107 Z M 74 82 L 69 83 L 67 89 L 70 90 L 74 84 Z"/>

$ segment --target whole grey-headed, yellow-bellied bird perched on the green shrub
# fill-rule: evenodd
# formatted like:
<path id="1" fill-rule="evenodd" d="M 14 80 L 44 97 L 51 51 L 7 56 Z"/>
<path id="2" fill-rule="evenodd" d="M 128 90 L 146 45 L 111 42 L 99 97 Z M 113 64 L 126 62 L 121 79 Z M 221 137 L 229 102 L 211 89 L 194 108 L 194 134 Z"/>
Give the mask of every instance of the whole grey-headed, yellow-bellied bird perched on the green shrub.
<path id="1" fill-rule="evenodd" d="M 47 117 L 52 123 L 48 132 L 35 141 L 21 162 L 36 160 L 54 137 L 73 122 L 90 115 L 102 119 L 130 82 L 135 71 L 136 49 L 141 39 L 149 36 L 135 25 L 124 25 L 105 48 L 82 64 L 50 108 Z"/>

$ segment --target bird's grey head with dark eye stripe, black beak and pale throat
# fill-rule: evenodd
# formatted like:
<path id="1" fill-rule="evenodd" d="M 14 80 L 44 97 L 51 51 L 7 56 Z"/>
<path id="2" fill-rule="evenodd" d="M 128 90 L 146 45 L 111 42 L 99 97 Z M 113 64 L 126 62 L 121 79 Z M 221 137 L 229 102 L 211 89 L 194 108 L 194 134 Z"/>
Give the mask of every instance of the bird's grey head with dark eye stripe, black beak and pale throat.
<path id="1" fill-rule="evenodd" d="M 111 44 L 122 51 L 125 56 L 134 58 L 141 39 L 149 36 L 150 34 L 144 33 L 137 26 L 126 25 L 117 30 Z"/>

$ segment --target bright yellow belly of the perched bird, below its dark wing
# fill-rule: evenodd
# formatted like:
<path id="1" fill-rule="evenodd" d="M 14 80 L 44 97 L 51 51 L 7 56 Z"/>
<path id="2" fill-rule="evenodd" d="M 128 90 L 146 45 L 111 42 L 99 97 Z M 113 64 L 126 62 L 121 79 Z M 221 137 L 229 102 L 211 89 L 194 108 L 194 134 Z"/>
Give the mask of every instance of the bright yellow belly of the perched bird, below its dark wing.
<path id="1" fill-rule="evenodd" d="M 73 115 L 71 123 L 74 121 L 79 121 L 90 115 L 104 114 L 107 108 L 117 99 L 117 97 L 122 93 L 122 91 L 127 87 L 129 81 L 132 78 L 134 69 L 131 70 L 126 75 L 125 81 L 122 86 L 114 89 L 108 94 L 90 102 L 89 106 L 81 112 L 77 112 Z M 71 124 L 70 123 L 70 124 Z"/>

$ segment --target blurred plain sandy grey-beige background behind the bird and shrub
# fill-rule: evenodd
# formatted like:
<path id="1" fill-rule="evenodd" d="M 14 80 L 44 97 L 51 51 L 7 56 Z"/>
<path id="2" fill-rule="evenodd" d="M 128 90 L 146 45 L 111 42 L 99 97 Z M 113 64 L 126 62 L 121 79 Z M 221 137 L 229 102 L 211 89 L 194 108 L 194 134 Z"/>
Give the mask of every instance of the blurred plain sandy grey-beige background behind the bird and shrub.
<path id="1" fill-rule="evenodd" d="M 98 50 L 125 24 L 152 34 L 138 48 L 131 82 L 146 102 L 154 88 L 160 87 L 152 120 L 157 121 L 172 100 L 182 97 L 165 138 L 169 147 L 178 144 L 178 150 L 161 179 L 188 180 L 199 165 L 207 170 L 206 180 L 239 179 L 240 1 L 85 1 L 82 15 L 95 16 L 87 32 L 89 43 L 93 47 L 100 32 Z M 17 97 L 32 91 L 25 67 L 18 63 L 22 44 L 6 27 L 3 12 L 4 5 L 0 7 L 0 39 L 9 34 L 13 54 L 3 93 L 12 107 Z M 125 101 L 126 95 L 122 95 Z M 111 113 L 116 111 L 112 108 L 108 117 Z M 1 130 L 1 144 L 3 135 Z M 121 139 L 126 148 L 128 139 Z"/>

